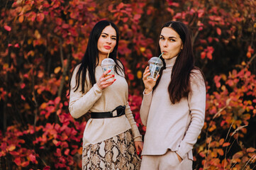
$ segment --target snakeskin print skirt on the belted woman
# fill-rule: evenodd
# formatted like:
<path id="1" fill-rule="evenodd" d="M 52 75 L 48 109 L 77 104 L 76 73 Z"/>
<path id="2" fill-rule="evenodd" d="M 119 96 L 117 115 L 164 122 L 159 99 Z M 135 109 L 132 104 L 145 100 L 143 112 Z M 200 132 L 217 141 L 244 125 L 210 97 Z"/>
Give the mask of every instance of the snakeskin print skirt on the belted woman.
<path id="1" fill-rule="evenodd" d="M 140 169 L 140 163 L 131 130 L 83 148 L 83 170 L 133 170 Z"/>

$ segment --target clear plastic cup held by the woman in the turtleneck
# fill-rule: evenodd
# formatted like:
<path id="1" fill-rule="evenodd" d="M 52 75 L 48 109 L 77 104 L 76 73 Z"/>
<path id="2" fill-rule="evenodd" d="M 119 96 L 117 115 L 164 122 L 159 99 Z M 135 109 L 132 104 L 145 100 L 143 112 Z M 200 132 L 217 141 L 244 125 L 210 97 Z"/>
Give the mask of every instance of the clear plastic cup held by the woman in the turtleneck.
<path id="1" fill-rule="evenodd" d="M 154 81 L 157 80 L 157 76 L 160 72 L 160 69 L 162 68 L 162 60 L 159 57 L 152 57 L 148 64 L 150 65 L 150 75 L 147 77 L 148 79 L 154 79 Z"/>

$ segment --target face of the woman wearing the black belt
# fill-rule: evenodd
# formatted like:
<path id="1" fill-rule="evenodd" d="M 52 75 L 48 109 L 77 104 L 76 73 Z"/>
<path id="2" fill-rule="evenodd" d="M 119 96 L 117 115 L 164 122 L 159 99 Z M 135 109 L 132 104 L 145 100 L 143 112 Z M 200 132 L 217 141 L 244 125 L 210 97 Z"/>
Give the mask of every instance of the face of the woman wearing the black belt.
<path id="1" fill-rule="evenodd" d="M 116 30 L 112 26 L 106 26 L 98 40 L 99 55 L 108 55 L 116 46 Z"/>

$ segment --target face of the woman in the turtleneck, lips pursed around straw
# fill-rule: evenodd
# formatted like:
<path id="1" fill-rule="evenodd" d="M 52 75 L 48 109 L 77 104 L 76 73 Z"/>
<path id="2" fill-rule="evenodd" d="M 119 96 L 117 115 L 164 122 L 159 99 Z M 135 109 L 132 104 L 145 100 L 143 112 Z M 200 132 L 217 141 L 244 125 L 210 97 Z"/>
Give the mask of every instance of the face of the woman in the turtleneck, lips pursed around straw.
<path id="1" fill-rule="evenodd" d="M 179 34 L 169 27 L 162 28 L 159 45 L 161 52 L 165 52 L 162 54 L 162 58 L 165 60 L 176 57 L 183 48 Z"/>

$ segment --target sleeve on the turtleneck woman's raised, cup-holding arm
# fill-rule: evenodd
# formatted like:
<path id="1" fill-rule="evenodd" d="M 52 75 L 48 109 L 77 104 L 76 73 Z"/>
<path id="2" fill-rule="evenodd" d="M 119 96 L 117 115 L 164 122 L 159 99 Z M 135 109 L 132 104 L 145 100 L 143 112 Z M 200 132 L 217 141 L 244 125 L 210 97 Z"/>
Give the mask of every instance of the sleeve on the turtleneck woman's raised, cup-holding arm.
<path id="1" fill-rule="evenodd" d="M 150 111 L 150 104 L 152 100 L 152 91 L 149 94 L 145 94 L 143 91 L 143 101 L 140 106 L 140 119 L 143 125 L 147 125 L 148 122 L 148 113 Z"/>

